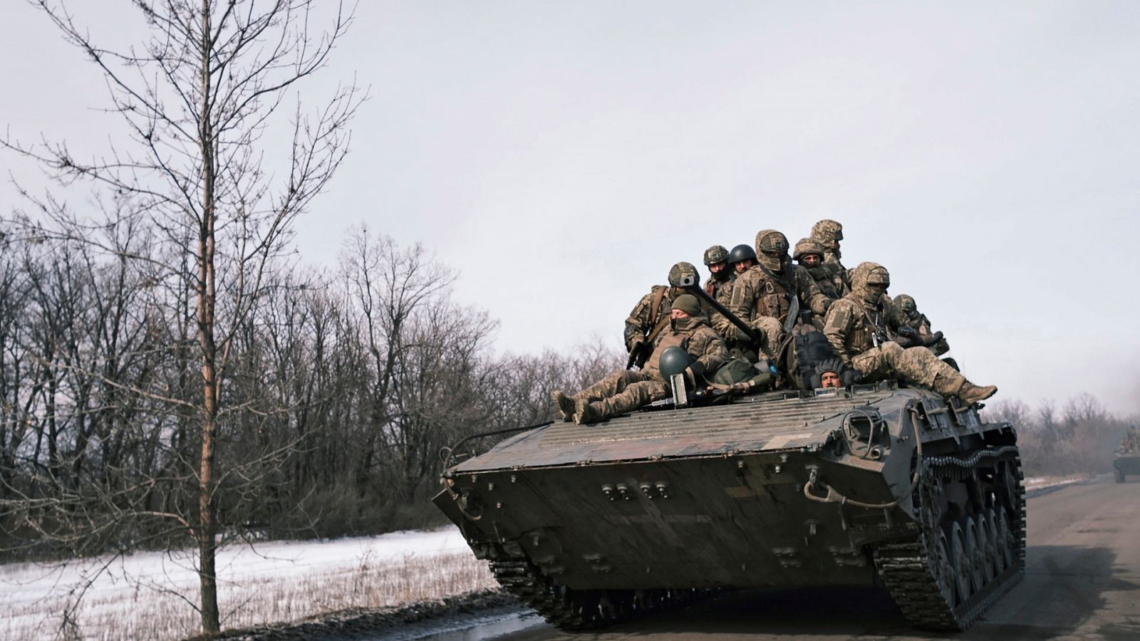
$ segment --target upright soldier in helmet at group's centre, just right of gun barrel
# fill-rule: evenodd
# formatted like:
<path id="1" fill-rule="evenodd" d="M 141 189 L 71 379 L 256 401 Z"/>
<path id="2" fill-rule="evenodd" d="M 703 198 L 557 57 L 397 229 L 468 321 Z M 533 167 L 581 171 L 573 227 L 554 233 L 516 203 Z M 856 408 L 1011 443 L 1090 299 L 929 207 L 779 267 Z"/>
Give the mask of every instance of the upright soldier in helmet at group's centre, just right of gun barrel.
<path id="1" fill-rule="evenodd" d="M 728 311 L 759 332 L 758 348 L 773 358 L 787 333 L 801 320 L 801 310 L 823 315 L 831 299 L 823 295 L 806 269 L 791 262 L 788 238 L 780 232 L 757 233 L 756 253 L 759 263 L 738 276 L 732 285 Z M 739 340 L 749 340 L 743 332 L 736 332 Z"/>

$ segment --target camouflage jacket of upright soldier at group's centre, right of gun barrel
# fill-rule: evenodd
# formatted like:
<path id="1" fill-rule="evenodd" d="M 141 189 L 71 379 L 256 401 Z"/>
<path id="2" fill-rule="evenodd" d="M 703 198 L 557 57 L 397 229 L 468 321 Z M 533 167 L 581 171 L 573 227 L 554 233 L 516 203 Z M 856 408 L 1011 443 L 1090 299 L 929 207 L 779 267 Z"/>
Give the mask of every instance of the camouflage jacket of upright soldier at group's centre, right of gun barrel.
<path id="1" fill-rule="evenodd" d="M 820 291 L 807 269 L 798 265 L 788 265 L 791 269 L 792 283 L 799 297 L 800 309 L 811 309 L 823 315 L 831 299 Z M 773 278 L 759 265 L 755 265 L 736 277 L 732 285 L 732 302 L 728 311 L 739 316 L 749 325 L 756 325 L 760 316 L 771 316 L 781 323 L 788 316 L 791 307 L 791 295 L 783 274 Z"/>

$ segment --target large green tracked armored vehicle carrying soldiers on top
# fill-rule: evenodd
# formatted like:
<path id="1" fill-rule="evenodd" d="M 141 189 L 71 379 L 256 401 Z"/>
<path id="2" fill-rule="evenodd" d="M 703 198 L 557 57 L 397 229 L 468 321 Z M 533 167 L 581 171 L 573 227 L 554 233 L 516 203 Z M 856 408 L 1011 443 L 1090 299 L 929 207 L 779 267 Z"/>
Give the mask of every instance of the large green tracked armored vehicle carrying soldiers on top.
<path id="1" fill-rule="evenodd" d="M 1017 437 L 976 406 L 893 382 L 659 405 L 450 453 L 434 502 L 564 630 L 716 589 L 881 584 L 956 631 L 1023 576 Z"/>

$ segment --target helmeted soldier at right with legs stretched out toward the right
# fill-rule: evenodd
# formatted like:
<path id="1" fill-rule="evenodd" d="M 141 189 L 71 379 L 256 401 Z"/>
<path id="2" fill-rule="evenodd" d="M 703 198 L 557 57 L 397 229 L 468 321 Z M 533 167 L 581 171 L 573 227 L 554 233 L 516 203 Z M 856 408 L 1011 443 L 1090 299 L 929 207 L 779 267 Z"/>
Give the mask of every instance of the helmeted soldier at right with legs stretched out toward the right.
<path id="1" fill-rule="evenodd" d="M 994 386 L 978 387 L 956 370 L 921 347 L 903 349 L 887 335 L 883 294 L 890 274 L 874 262 L 860 263 L 852 270 L 852 291 L 828 310 L 823 333 L 836 355 L 863 380 L 902 378 L 944 396 L 956 396 L 968 405 L 993 396 Z"/>

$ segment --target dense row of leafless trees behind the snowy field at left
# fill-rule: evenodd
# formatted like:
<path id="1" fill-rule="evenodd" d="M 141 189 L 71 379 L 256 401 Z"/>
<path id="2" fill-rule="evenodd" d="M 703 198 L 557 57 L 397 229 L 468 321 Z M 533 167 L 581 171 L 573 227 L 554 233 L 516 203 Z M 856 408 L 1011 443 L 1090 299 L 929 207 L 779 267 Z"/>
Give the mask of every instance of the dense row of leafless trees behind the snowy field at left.
<path id="1" fill-rule="evenodd" d="M 112 228 L 124 251 L 161 245 Z M 0 544 L 6 560 L 186 544 L 201 427 L 195 306 L 158 260 L 43 242 L 0 254 Z M 220 381 L 227 536 L 420 525 L 441 448 L 552 417 L 549 390 L 614 349 L 496 355 L 496 323 L 454 302 L 423 248 L 356 229 L 337 267 L 272 270 Z"/>

